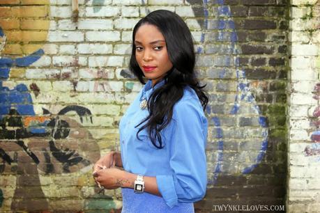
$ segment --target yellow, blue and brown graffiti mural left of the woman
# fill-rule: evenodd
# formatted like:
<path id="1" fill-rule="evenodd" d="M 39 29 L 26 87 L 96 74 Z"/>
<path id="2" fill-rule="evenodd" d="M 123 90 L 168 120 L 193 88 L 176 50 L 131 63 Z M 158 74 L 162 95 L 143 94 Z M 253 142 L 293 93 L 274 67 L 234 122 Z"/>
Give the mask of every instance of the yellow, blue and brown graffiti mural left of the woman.
<path id="1" fill-rule="evenodd" d="M 16 6 L 16 10 L 24 10 L 26 17 L 31 10 L 37 10 L 37 17 L 43 14 L 44 19 L 48 18 L 47 5 L 44 6 Z M 7 185 L 0 189 L 0 209 L 3 203 L 11 203 L 10 210 L 38 211 L 54 209 L 54 203 L 46 198 L 47 189 L 42 187 L 45 175 L 63 175 L 64 180 L 81 180 L 85 174 L 91 173 L 93 162 L 100 158 L 100 149 L 90 132 L 69 118 L 68 114 L 76 114 L 83 123 L 83 118 L 89 118 L 93 123 L 91 111 L 86 107 L 70 105 L 63 107 L 58 113 L 52 114 L 43 108 L 43 114 L 37 115 L 33 108 L 33 100 L 26 84 L 17 84 L 14 88 L 6 85 L 6 80 L 10 78 L 12 68 L 27 68 L 45 55 L 44 49 L 38 48 L 39 45 L 20 45 L 14 33 L 9 31 L 6 35 L 5 29 L 12 28 L 15 23 L 15 16 L 5 10 L 6 21 L 1 22 L 0 41 L 0 173 L 1 175 L 14 175 L 15 185 Z M 34 12 L 34 11 L 33 11 Z M 2 12 L 1 12 L 2 13 Z M 40 14 L 40 15 L 39 15 Z M 30 14 L 29 16 L 32 16 Z M 22 19 L 24 28 L 28 28 L 28 20 Z M 32 31 L 20 32 L 24 42 L 45 41 L 49 22 L 45 22 L 42 35 L 32 38 Z M 11 24 L 11 25 L 10 25 Z M 19 33 L 19 32 L 17 32 Z M 25 36 L 25 37 L 23 37 Z M 15 45 L 17 43 L 17 45 Z M 15 45 L 15 46 L 14 46 Z M 18 47 L 18 48 L 13 48 Z M 22 51 L 22 52 L 20 52 Z M 30 51 L 33 51 L 29 54 Z M 15 57 L 15 55 L 27 54 L 27 56 Z M 40 93 L 36 83 L 30 84 L 30 90 L 36 95 Z M 54 179 L 53 179 L 54 180 Z M 77 179 L 75 179 L 77 181 Z M 8 181 L 3 179 L 3 181 Z M 84 183 L 87 185 L 87 183 Z M 14 187 L 13 194 L 9 189 Z M 70 190 L 77 189 L 77 185 L 70 186 Z M 81 189 L 77 189 L 80 194 Z M 101 197 L 104 197 L 103 195 Z M 59 202 L 57 202 L 59 205 Z M 83 200 L 74 202 L 73 210 L 83 209 Z M 8 205 L 8 204 L 7 204 Z"/>

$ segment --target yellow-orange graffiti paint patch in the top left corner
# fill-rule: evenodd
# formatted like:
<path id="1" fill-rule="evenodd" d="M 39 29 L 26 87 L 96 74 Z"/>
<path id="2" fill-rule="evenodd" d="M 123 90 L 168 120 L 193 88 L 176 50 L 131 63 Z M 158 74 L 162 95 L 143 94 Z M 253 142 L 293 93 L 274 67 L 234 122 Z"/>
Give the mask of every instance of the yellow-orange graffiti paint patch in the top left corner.
<path id="1" fill-rule="evenodd" d="M 0 26 L 6 35 L 1 54 L 31 54 L 47 40 L 49 0 L 1 0 Z"/>

